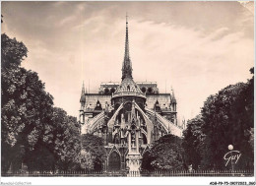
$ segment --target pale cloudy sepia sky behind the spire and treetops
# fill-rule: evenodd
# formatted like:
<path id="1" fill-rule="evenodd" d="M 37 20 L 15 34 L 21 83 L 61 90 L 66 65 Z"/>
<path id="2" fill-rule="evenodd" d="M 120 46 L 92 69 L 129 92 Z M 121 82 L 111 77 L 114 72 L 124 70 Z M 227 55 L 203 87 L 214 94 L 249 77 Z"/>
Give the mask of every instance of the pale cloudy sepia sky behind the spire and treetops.
<path id="1" fill-rule="evenodd" d="M 253 2 L 2 2 L 1 31 L 29 49 L 22 66 L 38 73 L 54 105 L 79 115 L 83 81 L 120 82 L 125 16 L 136 82 L 157 82 L 191 119 L 254 66 Z"/>

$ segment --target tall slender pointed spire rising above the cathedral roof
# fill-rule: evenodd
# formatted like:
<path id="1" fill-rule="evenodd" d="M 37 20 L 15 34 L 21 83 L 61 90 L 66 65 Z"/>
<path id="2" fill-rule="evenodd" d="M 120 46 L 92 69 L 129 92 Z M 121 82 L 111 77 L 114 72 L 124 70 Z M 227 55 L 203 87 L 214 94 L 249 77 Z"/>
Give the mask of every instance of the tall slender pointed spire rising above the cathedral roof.
<path id="1" fill-rule="evenodd" d="M 129 36 L 128 36 L 128 16 L 126 13 L 126 33 L 125 33 L 125 52 L 124 52 L 124 61 L 123 61 L 123 67 L 122 67 L 122 80 L 125 78 L 131 78 L 132 77 L 132 62 L 130 60 L 129 55 Z"/>

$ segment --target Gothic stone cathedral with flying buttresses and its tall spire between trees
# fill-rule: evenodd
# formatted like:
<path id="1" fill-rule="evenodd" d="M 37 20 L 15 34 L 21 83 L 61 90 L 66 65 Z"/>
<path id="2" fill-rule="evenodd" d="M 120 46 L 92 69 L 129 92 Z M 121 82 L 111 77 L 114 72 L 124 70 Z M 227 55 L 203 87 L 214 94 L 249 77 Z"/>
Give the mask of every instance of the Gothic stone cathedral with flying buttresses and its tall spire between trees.
<path id="1" fill-rule="evenodd" d="M 135 82 L 129 55 L 126 20 L 125 54 L 121 83 L 101 83 L 98 93 L 80 98 L 82 134 L 101 137 L 107 152 L 105 170 L 138 171 L 143 155 L 161 136 L 181 137 L 174 93 L 160 93 L 155 82 Z"/>

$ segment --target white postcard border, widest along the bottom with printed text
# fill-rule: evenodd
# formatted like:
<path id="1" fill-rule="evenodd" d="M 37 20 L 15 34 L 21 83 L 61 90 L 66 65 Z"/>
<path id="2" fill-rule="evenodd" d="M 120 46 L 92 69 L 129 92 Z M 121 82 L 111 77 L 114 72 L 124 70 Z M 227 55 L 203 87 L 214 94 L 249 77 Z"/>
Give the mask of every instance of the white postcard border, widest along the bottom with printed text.
<path id="1" fill-rule="evenodd" d="M 9 0 L 14 1 L 14 0 Z M 22 0 L 16 0 L 22 1 Z M 34 1 L 34 0 L 26 0 Z M 52 1 L 52 0 L 43 0 L 43 1 Z M 67 0 L 62 0 L 67 1 Z M 76 0 L 83 1 L 83 0 Z M 104 0 L 87 0 L 87 1 L 104 1 Z M 116 0 L 108 0 L 116 1 Z M 134 0 L 126 0 L 134 1 Z M 158 1 L 158 0 L 140 0 L 140 1 Z M 172 1 L 181 1 L 181 0 L 172 0 Z M 203 1 L 203 0 L 182 0 L 182 1 Z M 219 1 L 219 0 L 212 0 Z M 233 1 L 233 0 L 220 0 L 220 1 Z M 246 1 L 246 0 L 240 0 Z M 254 0 L 252 0 L 254 1 Z M 2 0 L 1 0 L 2 2 Z M 254 1 L 254 10 L 256 7 L 256 2 Z M 0 4 L 0 12 L 2 12 Z M 0 30 L 1 31 L 1 30 Z M 254 63 L 255 63 L 255 14 L 254 14 Z M 0 77 L 1 80 L 1 77 Z M 255 82 L 254 82 L 254 93 Z M 1 101 L 1 100 L 0 100 Z M 254 99 L 254 108 L 256 100 Z M 1 113 L 1 110 L 0 110 Z M 254 109 L 254 113 L 256 113 Z M 255 114 L 254 114 L 255 115 Z M 0 121 L 1 122 L 1 121 Z M 254 117 L 255 124 L 255 117 Z M 254 127 L 254 134 L 255 134 Z M 1 136 L 1 133 L 0 133 Z M 254 144 L 255 144 L 254 138 Z M 255 149 L 254 149 L 255 150 Z M 0 150 L 1 152 L 1 150 Z M 255 154 L 254 154 L 255 162 Z M 1 162 L 0 162 L 1 164 Z M 1 169 L 0 169 L 1 172 Z M 254 173 L 256 172 L 256 167 L 254 165 Z M 1 175 L 0 175 L 1 176 Z M 1 185 L 29 185 L 26 183 L 31 183 L 30 185 L 210 185 L 210 182 L 246 182 L 247 185 L 249 182 L 255 182 L 254 177 L 1 177 Z M 217 184 L 221 185 L 221 184 Z M 224 185 L 224 184 L 223 184 Z M 233 185 L 238 185 L 234 183 Z"/>

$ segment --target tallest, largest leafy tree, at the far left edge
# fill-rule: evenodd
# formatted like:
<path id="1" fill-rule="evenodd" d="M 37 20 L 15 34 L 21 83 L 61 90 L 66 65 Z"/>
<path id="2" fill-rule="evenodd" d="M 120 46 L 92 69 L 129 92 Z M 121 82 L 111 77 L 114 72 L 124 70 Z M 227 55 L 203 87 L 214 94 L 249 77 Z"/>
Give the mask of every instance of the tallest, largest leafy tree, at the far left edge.
<path id="1" fill-rule="evenodd" d="M 24 158 L 21 151 L 33 148 L 44 123 L 50 119 L 53 102 L 37 74 L 20 67 L 27 57 L 27 47 L 5 33 L 1 37 L 1 144 L 2 170 L 6 171 L 12 161 Z M 16 164 L 13 166 L 19 167 L 21 162 Z"/>

